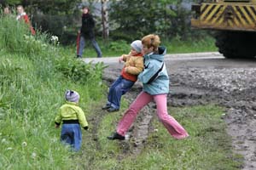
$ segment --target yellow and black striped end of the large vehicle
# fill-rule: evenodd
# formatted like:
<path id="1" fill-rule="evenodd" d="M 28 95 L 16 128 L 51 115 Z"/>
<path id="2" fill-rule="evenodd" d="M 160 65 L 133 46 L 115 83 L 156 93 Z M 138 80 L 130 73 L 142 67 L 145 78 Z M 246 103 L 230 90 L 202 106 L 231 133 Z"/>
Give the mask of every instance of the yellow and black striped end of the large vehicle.
<path id="1" fill-rule="evenodd" d="M 256 31 L 256 0 L 194 4 L 191 26 L 201 29 Z"/>

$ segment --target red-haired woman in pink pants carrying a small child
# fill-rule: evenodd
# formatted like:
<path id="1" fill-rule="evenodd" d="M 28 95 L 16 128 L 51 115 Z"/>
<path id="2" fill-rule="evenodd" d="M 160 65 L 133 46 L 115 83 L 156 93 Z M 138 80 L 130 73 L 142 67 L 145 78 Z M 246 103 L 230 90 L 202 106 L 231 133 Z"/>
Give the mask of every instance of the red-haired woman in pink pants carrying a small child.
<path id="1" fill-rule="evenodd" d="M 164 63 L 165 47 L 159 47 L 160 37 L 150 34 L 143 37 L 144 53 L 144 71 L 138 76 L 140 82 L 143 82 L 143 92 L 125 111 L 123 118 L 119 121 L 116 132 L 108 139 L 125 139 L 125 133 L 135 121 L 137 113 L 145 105 L 153 101 L 156 104 L 157 116 L 160 122 L 166 127 L 168 132 L 175 139 L 184 139 L 189 136 L 186 130 L 172 117 L 167 111 L 167 94 L 169 93 L 169 77 Z"/>

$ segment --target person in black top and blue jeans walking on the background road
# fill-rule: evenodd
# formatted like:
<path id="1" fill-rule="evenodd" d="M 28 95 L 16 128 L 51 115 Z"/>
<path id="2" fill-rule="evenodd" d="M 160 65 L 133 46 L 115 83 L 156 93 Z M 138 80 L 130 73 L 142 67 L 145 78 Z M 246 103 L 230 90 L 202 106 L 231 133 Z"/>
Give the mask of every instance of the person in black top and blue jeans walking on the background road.
<path id="1" fill-rule="evenodd" d="M 85 47 L 85 42 L 90 41 L 93 48 L 95 48 L 97 57 L 102 57 L 102 51 L 99 47 L 98 43 L 95 40 L 94 35 L 94 27 L 95 27 L 95 20 L 93 20 L 92 15 L 90 14 L 90 8 L 83 7 L 83 15 L 82 15 L 82 26 L 79 31 L 79 47 L 77 50 L 77 57 L 81 58 L 83 54 L 83 50 Z"/>

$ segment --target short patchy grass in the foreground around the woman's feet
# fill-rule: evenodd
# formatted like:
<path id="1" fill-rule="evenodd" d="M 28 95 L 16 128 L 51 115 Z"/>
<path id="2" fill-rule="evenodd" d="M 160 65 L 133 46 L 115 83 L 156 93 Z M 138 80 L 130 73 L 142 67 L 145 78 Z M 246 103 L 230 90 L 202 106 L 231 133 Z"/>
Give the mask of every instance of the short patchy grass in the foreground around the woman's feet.
<path id="1" fill-rule="evenodd" d="M 224 169 L 241 167 L 241 156 L 231 151 L 230 137 L 225 133 L 221 119 L 224 109 L 216 105 L 171 108 L 169 112 L 189 132 L 189 139 L 173 139 L 163 125 L 154 118 L 157 131 L 150 133 L 142 153 L 126 155 L 119 160 L 123 150 L 118 141 L 106 137 L 113 131 L 120 118 L 120 111 L 104 116 L 98 133 L 100 149 L 91 150 L 91 143 L 85 142 L 84 155 L 79 155 L 79 166 L 88 169 Z M 84 139 L 88 139 L 86 134 Z M 82 157 L 82 159 L 81 159 Z M 90 164 L 88 161 L 90 160 Z M 79 167 L 78 167 L 79 168 Z"/>

